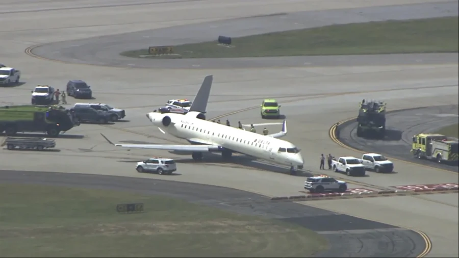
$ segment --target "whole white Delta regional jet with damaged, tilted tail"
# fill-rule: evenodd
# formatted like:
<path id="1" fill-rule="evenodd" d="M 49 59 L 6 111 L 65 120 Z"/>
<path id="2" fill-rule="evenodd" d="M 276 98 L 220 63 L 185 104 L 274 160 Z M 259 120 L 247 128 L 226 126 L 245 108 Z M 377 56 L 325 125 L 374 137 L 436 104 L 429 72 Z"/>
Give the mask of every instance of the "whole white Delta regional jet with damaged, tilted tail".
<path id="1" fill-rule="evenodd" d="M 209 95 L 212 75 L 206 77 L 199 92 Z M 204 90 L 203 90 L 204 89 Z M 209 89 L 209 90 L 205 90 Z M 208 95 L 196 95 L 190 112 L 187 114 L 151 112 L 146 117 L 158 126 L 163 133 L 185 139 L 191 144 L 114 144 L 102 135 L 110 144 L 126 148 L 163 149 L 189 152 L 195 161 L 202 160 L 203 152 L 221 152 L 223 159 L 230 159 L 233 152 L 246 154 L 261 160 L 290 166 L 290 173 L 303 168 L 303 158 L 292 143 L 280 140 L 287 135 L 287 122 L 284 120 L 282 131 L 271 135 L 260 135 L 232 126 L 226 126 L 206 120 Z M 202 101 L 196 101 L 205 100 Z M 193 107 L 195 105 L 195 107 Z"/>

